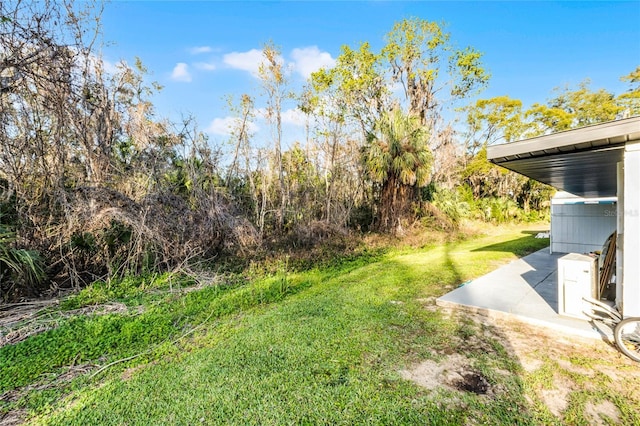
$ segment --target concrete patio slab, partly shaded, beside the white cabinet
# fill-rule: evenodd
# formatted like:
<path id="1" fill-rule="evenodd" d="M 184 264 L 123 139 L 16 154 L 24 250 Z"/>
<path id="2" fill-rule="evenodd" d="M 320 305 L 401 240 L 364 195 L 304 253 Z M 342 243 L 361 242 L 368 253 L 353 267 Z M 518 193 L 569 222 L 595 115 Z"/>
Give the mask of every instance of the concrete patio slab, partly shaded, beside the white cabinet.
<path id="1" fill-rule="evenodd" d="M 611 330 L 558 315 L 557 261 L 565 253 L 539 250 L 466 283 L 436 300 L 438 306 L 516 319 L 581 337 L 602 339 Z"/>

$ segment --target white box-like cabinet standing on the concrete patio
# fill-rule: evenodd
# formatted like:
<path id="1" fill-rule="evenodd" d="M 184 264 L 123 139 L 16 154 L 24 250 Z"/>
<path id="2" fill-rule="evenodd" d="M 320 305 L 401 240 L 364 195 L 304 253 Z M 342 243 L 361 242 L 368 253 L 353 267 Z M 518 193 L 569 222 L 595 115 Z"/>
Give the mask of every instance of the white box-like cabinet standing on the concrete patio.
<path id="1" fill-rule="evenodd" d="M 570 253 L 558 259 L 558 314 L 588 320 L 591 306 L 583 297 L 595 297 L 597 259 Z"/>

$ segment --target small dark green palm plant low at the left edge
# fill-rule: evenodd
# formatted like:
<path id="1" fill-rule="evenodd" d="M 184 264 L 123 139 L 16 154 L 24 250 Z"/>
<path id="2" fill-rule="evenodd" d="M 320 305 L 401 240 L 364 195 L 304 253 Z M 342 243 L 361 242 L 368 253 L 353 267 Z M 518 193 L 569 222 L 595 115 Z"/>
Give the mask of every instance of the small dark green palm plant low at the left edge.
<path id="1" fill-rule="evenodd" d="M 14 285 L 26 285 L 33 288 L 46 277 L 44 262 L 35 250 L 14 247 L 16 233 L 0 223 L 0 296 L 6 299 L 9 289 Z M 6 286 L 5 283 L 11 283 Z"/>

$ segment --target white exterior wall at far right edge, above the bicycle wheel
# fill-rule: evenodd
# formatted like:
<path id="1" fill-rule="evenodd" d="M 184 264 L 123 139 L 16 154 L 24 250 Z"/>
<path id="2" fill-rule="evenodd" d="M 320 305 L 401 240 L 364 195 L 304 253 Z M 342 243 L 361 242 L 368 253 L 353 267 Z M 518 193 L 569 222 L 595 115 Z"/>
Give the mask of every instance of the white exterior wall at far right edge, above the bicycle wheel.
<path id="1" fill-rule="evenodd" d="M 640 317 L 640 142 L 624 153 L 622 314 Z"/>

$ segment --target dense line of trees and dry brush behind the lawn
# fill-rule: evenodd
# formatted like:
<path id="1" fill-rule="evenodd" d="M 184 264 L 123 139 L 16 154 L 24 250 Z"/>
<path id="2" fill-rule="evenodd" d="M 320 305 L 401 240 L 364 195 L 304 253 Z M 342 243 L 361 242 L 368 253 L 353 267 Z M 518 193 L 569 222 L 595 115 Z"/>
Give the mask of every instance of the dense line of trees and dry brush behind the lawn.
<path id="1" fill-rule="evenodd" d="M 298 92 L 277 46 L 265 44 L 261 92 L 230 99 L 231 136 L 213 144 L 192 119 L 156 116 L 150 99 L 161 88 L 145 83 L 141 61 L 105 71 L 101 8 L 0 3 L 5 301 L 348 229 L 539 217 L 550 188 L 491 165 L 486 146 L 640 113 L 640 67 L 619 95 L 585 81 L 528 109 L 508 97 L 472 103 L 489 84 L 482 54 L 414 18 L 379 51 L 343 46 Z M 284 146 L 291 100 L 307 136 Z M 258 102 L 268 146 L 251 131 Z"/>

